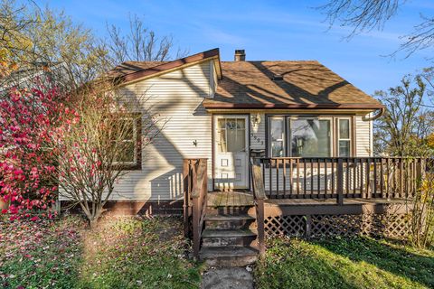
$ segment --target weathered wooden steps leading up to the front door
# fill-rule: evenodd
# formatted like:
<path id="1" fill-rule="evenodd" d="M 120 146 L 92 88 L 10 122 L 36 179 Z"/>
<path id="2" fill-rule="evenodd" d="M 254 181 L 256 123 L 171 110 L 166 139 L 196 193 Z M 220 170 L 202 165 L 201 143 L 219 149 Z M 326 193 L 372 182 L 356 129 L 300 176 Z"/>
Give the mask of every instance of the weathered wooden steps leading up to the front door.
<path id="1" fill-rule="evenodd" d="M 202 249 L 210 266 L 247 266 L 259 255 L 253 203 L 245 192 L 209 193 L 204 217 Z"/>

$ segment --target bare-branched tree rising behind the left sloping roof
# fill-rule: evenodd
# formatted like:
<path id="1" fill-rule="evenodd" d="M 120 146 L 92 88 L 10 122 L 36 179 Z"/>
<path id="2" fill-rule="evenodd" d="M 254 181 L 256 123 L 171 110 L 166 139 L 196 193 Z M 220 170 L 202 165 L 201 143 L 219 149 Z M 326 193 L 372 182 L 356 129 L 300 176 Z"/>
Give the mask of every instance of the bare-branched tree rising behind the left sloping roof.
<path id="1" fill-rule="evenodd" d="M 107 31 L 109 39 L 104 42 L 104 47 L 109 51 L 109 61 L 113 66 L 125 61 L 168 61 L 185 54 L 178 49 L 173 55 L 173 38 L 158 38 L 137 15 L 130 15 L 127 33 L 114 24 L 107 24 Z"/>

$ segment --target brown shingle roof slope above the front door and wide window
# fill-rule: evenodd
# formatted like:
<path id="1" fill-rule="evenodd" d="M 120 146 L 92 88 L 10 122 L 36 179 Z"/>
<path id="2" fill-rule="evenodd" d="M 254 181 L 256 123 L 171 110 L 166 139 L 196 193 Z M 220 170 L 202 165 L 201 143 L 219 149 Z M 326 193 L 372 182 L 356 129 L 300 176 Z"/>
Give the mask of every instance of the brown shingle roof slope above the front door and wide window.
<path id="1" fill-rule="evenodd" d="M 318 61 L 222 61 L 222 75 L 205 107 L 382 108 Z"/>

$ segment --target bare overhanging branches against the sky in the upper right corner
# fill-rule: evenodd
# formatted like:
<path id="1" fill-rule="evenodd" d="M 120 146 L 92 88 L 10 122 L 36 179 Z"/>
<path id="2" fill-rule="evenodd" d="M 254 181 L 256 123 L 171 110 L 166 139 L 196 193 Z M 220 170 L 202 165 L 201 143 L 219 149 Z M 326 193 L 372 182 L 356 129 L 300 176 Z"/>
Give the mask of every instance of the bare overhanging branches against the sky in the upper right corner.
<path id="1" fill-rule="evenodd" d="M 325 14 L 330 25 L 336 22 L 343 26 L 353 27 L 348 35 L 382 29 L 406 4 L 406 0 L 336 0 L 329 1 L 318 8 Z M 409 57 L 413 52 L 432 49 L 434 44 L 434 17 L 420 12 L 421 23 L 413 27 L 409 34 L 403 34 L 401 46 L 392 55 L 404 52 Z"/>

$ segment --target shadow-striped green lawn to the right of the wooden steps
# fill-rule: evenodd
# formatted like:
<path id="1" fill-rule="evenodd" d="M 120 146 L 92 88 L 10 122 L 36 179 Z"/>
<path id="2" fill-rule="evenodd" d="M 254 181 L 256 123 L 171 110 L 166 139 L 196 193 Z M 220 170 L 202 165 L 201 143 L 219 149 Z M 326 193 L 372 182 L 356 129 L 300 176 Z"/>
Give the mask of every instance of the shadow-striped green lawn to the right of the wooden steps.
<path id="1" fill-rule="evenodd" d="M 434 251 L 372 238 L 275 238 L 254 273 L 258 288 L 434 288 Z"/>

